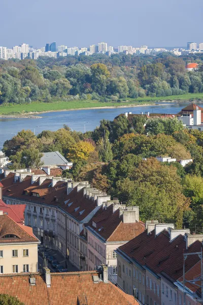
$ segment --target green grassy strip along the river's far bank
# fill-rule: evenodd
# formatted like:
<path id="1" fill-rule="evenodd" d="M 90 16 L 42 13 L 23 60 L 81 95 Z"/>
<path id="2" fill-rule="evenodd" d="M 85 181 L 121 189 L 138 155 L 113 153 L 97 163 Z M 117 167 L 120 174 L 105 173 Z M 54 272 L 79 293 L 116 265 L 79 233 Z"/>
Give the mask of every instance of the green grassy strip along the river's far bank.
<path id="1" fill-rule="evenodd" d="M 26 114 L 26 113 L 38 113 L 47 111 L 61 111 L 71 109 L 85 109 L 85 108 L 100 108 L 100 107 L 121 107 L 121 106 L 142 106 L 147 104 L 154 104 L 161 101 L 203 101 L 203 93 L 198 94 L 185 94 L 181 96 L 169 96 L 169 97 L 145 97 L 138 99 L 129 99 L 122 102 L 99 102 L 92 100 L 78 100 L 78 101 L 53 101 L 51 103 L 33 102 L 31 104 L 7 104 L 0 106 L 0 115 L 12 115 L 12 114 Z"/>

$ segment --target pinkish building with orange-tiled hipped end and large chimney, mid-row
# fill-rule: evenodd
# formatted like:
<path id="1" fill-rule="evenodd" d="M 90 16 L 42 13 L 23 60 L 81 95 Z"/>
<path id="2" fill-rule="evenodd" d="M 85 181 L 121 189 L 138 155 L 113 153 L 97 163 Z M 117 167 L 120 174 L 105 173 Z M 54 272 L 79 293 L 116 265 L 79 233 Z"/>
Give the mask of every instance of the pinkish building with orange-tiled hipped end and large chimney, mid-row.
<path id="1" fill-rule="evenodd" d="M 110 197 L 110 196 L 109 196 Z M 107 200 L 107 201 L 106 201 Z M 115 250 L 145 230 L 139 220 L 139 207 L 126 207 L 118 200 L 105 198 L 103 205 L 85 225 L 88 270 L 101 263 L 108 265 L 109 280 L 117 283 L 117 254 Z"/>

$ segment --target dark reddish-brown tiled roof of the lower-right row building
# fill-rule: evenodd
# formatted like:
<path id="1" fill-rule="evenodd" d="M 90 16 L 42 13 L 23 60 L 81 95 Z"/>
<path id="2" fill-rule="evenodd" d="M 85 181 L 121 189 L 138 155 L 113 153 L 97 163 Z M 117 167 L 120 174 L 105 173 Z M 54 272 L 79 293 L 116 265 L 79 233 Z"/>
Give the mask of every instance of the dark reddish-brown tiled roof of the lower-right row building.
<path id="1" fill-rule="evenodd" d="M 169 277 L 177 280 L 183 275 L 183 251 L 185 253 L 200 251 L 201 242 L 197 240 L 186 249 L 186 240 L 183 235 L 179 235 L 170 242 L 167 230 L 163 230 L 156 237 L 153 230 L 149 235 L 145 231 L 118 249 L 154 272 L 165 272 Z M 189 256 L 185 264 L 186 271 L 198 261 L 198 255 Z"/>

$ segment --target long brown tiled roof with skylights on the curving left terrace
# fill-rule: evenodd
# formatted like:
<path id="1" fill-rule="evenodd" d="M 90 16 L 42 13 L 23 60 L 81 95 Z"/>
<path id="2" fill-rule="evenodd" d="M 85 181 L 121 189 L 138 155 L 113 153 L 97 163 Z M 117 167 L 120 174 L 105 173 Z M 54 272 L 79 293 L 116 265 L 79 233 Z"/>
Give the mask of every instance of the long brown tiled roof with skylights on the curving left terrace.
<path id="1" fill-rule="evenodd" d="M 14 175 L 11 175 L 3 179 L 2 182 L 4 185 L 3 196 L 19 198 L 39 204 L 59 206 L 78 221 L 82 221 L 97 207 L 96 201 L 83 196 L 83 189 L 77 192 L 76 187 L 67 195 L 67 184 L 64 181 L 58 181 L 54 187 L 51 187 L 52 180 L 46 179 L 39 186 L 38 180 L 31 184 L 31 176 L 29 175 L 22 182 L 19 180 L 14 182 Z M 40 197 L 32 196 L 33 193 L 39 194 Z"/>

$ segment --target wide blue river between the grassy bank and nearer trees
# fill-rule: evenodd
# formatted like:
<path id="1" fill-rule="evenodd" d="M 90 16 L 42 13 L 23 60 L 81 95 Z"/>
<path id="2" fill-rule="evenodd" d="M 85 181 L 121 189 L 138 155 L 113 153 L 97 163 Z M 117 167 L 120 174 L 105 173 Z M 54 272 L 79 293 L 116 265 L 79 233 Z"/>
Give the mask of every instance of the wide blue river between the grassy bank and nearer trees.
<path id="1" fill-rule="evenodd" d="M 147 111 L 154 113 L 178 113 L 188 103 L 157 103 L 155 106 L 122 107 L 110 109 L 87 109 L 71 110 L 59 112 L 47 112 L 39 114 L 42 118 L 0 118 L 0 149 L 6 140 L 11 139 L 22 129 L 30 129 L 36 132 L 36 135 L 43 130 L 55 131 L 62 126 L 68 125 L 76 131 L 93 130 L 99 126 L 101 119 L 113 120 L 120 113 L 145 113 Z M 161 105 L 164 104 L 164 105 Z M 198 104 L 202 106 L 203 104 Z"/>

